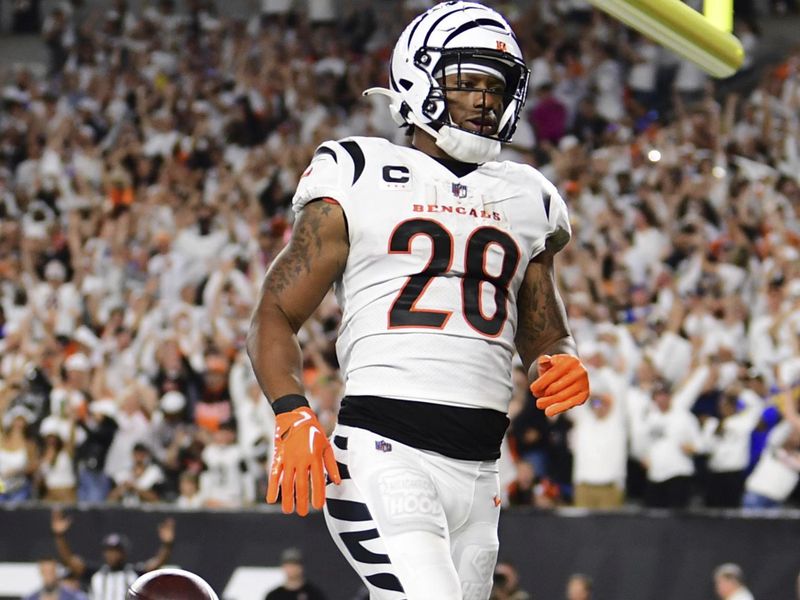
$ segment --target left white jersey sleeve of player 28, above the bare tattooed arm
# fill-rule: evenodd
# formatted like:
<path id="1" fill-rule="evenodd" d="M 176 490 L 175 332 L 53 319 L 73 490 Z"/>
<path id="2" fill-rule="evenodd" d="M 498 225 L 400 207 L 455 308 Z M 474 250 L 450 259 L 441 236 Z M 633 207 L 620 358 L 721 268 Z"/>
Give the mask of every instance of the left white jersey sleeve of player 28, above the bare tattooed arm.
<path id="1" fill-rule="evenodd" d="M 350 186 L 345 184 L 346 166 L 339 142 L 320 144 L 300 177 L 292 198 L 292 209 L 300 212 L 306 204 L 318 198 L 331 198 L 340 204 L 346 202 L 350 192 Z"/>

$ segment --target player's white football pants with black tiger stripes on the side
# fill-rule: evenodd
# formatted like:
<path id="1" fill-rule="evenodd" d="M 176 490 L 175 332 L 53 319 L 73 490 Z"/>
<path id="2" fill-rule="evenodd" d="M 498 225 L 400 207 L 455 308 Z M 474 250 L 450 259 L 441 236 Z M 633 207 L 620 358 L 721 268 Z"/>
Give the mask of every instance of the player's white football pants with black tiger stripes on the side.
<path id="1" fill-rule="evenodd" d="M 487 600 L 497 561 L 497 462 L 448 458 L 339 425 L 341 485 L 325 520 L 371 600 Z"/>

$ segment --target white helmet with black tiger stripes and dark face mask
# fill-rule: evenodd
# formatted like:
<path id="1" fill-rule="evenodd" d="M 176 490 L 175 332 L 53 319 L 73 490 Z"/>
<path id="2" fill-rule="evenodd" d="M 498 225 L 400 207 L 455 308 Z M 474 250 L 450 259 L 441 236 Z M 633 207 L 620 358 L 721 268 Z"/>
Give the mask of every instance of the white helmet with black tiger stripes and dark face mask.
<path id="1" fill-rule="evenodd" d="M 459 127 L 450 117 L 447 90 L 439 79 L 461 72 L 490 74 L 505 82 L 503 114 L 491 135 Z M 529 74 L 506 20 L 477 2 L 456 0 L 437 4 L 406 27 L 392 53 L 391 89 L 370 88 L 364 94 L 389 96 L 398 125 L 426 131 L 457 160 L 481 163 L 497 157 L 500 142 L 511 141 Z"/>

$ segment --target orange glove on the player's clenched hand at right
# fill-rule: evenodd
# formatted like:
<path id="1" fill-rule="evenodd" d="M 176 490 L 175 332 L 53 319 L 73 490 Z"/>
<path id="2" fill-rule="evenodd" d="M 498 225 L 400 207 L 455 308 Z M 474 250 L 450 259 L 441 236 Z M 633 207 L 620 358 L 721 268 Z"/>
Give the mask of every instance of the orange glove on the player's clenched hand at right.
<path id="1" fill-rule="evenodd" d="M 536 365 L 539 377 L 531 384 L 536 407 L 553 417 L 586 402 L 589 397 L 589 374 L 577 356 L 542 355 Z"/>

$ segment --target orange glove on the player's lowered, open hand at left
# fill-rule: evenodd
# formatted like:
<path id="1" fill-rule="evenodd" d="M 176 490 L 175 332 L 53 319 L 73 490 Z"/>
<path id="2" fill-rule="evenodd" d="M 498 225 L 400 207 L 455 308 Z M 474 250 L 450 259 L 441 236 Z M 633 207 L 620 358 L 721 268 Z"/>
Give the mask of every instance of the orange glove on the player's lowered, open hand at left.
<path id="1" fill-rule="evenodd" d="M 308 480 L 311 478 L 311 505 L 325 504 L 325 471 L 334 483 L 341 483 L 339 467 L 333 457 L 328 438 L 307 406 L 295 408 L 275 417 L 275 456 L 269 473 L 267 502 L 274 504 L 281 492 L 281 508 L 289 514 L 308 514 Z"/>

